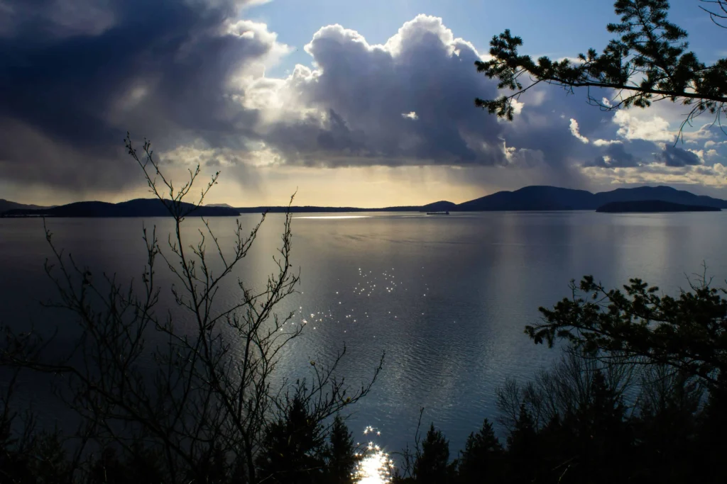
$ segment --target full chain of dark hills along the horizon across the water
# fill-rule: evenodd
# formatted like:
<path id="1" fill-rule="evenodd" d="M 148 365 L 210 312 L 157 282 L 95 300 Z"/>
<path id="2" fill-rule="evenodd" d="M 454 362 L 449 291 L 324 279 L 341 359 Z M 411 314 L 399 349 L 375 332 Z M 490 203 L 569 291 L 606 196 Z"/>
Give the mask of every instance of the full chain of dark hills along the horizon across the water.
<path id="1" fill-rule="evenodd" d="M 610 192 L 591 193 L 586 190 L 558 186 L 525 186 L 513 192 L 497 192 L 463 203 L 441 200 L 427 205 L 407 205 L 385 208 L 293 206 L 292 213 L 335 212 L 450 212 L 495 210 L 596 210 L 613 202 L 660 201 L 680 205 L 727 208 L 727 200 L 696 195 L 670 186 L 638 186 L 619 188 Z M 121 203 L 76 202 L 52 208 L 17 208 L 13 202 L 0 200 L 1 216 L 55 216 L 55 217 L 163 217 L 168 216 L 164 204 L 156 199 L 137 199 Z M 188 205 L 188 204 L 187 204 Z M 10 209 L 4 207 L 11 206 Z M 191 205 L 188 205 L 189 207 Z M 227 204 L 205 205 L 192 216 L 238 216 L 240 213 L 284 213 L 287 206 L 231 208 Z"/>

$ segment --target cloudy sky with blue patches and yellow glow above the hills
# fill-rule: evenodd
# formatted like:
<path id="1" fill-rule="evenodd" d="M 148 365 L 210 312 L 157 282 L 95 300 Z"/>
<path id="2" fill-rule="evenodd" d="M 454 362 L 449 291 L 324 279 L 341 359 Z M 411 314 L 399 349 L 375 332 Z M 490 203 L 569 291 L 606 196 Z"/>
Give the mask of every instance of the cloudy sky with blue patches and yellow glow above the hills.
<path id="1" fill-rule="evenodd" d="M 699 1 L 671 4 L 700 60 L 727 55 Z M 474 66 L 492 36 L 575 57 L 615 20 L 611 1 L 0 0 L 0 198 L 148 197 L 127 131 L 177 184 L 197 164 L 205 180 L 220 171 L 206 202 L 233 206 L 293 192 L 464 202 L 532 184 L 727 198 L 727 135 L 705 116 L 675 144 L 678 104 L 604 112 L 538 86 L 513 122 L 474 107 L 498 94 Z"/>

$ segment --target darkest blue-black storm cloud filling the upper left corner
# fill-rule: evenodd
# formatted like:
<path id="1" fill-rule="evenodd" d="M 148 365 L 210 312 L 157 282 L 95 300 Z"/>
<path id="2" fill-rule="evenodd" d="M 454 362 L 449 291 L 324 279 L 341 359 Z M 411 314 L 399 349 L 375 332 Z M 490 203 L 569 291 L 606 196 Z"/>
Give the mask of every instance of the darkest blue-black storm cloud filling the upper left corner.
<path id="1" fill-rule="evenodd" d="M 120 188 L 134 180 L 119 157 L 126 129 L 162 149 L 190 134 L 244 139 L 255 112 L 233 102 L 228 81 L 274 39 L 228 27 L 243 3 L 5 0 L 2 176 Z"/>

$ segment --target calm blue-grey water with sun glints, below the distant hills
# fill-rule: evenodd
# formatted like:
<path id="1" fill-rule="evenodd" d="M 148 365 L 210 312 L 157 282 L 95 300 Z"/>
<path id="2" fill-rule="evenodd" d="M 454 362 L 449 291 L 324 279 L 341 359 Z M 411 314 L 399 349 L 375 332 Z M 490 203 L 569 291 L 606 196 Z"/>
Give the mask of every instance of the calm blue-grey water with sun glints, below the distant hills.
<path id="1" fill-rule="evenodd" d="M 241 216 L 252 227 L 257 216 Z M 260 284 L 273 270 L 282 216 L 269 216 L 237 276 Z M 602 214 L 470 213 L 422 216 L 356 213 L 295 216 L 294 266 L 300 294 L 281 312 L 308 322 L 284 354 L 281 371 L 305 376 L 313 358 L 326 361 L 345 343 L 340 374 L 353 385 L 366 380 L 382 352 L 384 370 L 372 393 L 356 406 L 350 428 L 361 439 L 366 426 L 389 450 L 412 440 L 419 408 L 461 448 L 485 417 L 493 418 L 494 389 L 506 377 L 527 379 L 557 356 L 535 346 L 523 327 L 538 319 L 539 305 L 569 295 L 570 279 L 593 274 L 604 284 L 640 276 L 664 292 L 686 287 L 686 275 L 727 276 L 725 213 Z M 142 223 L 166 219 L 50 219 L 59 247 L 101 274 L 140 279 Z M 230 250 L 233 220 L 211 221 Z M 188 240 L 201 223 L 185 222 Z M 20 326 L 57 317 L 41 310 L 49 284 L 42 223 L 0 219 L 0 315 Z M 171 281 L 159 268 L 162 287 Z M 225 288 L 218 302 L 234 300 Z M 32 382 L 26 387 L 32 387 Z M 33 392 L 28 390 L 26 401 Z M 37 405 L 37 404 L 36 404 Z M 39 405 L 41 411 L 42 405 Z"/>

